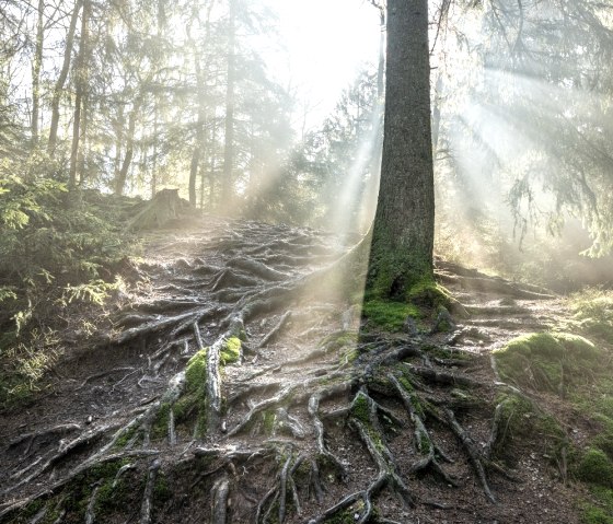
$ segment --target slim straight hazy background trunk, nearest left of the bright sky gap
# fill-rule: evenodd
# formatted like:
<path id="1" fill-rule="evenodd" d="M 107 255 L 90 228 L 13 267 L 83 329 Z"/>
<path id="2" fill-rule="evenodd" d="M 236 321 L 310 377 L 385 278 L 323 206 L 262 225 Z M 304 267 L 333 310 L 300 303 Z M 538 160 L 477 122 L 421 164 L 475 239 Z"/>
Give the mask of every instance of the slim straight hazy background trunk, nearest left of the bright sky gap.
<path id="1" fill-rule="evenodd" d="M 235 93 L 234 83 L 236 81 L 236 5 L 235 0 L 229 0 L 229 21 L 228 21 L 228 74 L 225 85 L 225 138 L 223 148 L 223 181 L 221 183 L 222 205 L 229 208 L 229 203 L 234 197 L 234 106 Z"/>

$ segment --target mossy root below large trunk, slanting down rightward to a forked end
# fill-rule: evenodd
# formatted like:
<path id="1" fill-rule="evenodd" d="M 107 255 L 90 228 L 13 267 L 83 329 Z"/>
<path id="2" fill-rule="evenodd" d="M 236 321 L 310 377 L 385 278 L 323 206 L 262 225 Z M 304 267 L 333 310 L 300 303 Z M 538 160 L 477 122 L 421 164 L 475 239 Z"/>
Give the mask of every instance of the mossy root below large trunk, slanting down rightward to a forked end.
<path id="1" fill-rule="evenodd" d="M 392 383 L 396 389 L 405 409 L 408 411 L 413 426 L 415 428 L 415 449 L 421 458 L 419 458 L 412 467 L 410 473 L 415 474 L 418 471 L 424 471 L 426 469 L 431 469 L 433 473 L 439 475 L 447 484 L 456 487 L 458 482 L 440 465 L 437 455 L 440 456 L 446 462 L 451 461 L 444 452 L 432 441 L 426 424 L 421 420 L 421 417 L 416 408 L 416 403 L 412 398 L 410 394 L 403 387 L 398 380 L 390 373 L 388 380 Z"/>

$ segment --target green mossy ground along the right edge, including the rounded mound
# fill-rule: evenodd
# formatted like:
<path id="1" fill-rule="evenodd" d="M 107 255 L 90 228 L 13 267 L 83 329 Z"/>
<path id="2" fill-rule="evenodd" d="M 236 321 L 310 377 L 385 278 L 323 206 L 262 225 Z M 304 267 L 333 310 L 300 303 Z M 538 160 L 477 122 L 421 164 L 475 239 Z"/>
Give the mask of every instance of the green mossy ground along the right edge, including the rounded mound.
<path id="1" fill-rule="evenodd" d="M 525 404 L 518 404 L 517 399 L 509 400 L 506 407 L 507 428 L 514 432 L 540 429 L 536 432 L 541 433 L 541 441 L 545 433 L 550 436 L 553 453 L 547 453 L 554 456 L 558 455 L 559 445 L 569 445 L 569 473 L 590 492 L 590 500 L 580 502 L 581 521 L 613 524 L 613 364 L 609 347 L 613 300 L 611 293 L 588 290 L 575 295 L 571 304 L 579 329 L 597 343 L 578 335 L 540 333 L 511 340 L 494 357 L 504 380 L 527 391 L 566 397 L 571 409 L 595 428 L 594 433 L 583 445 L 572 446 L 556 418 L 543 418 L 530 409 L 517 410 L 518 405 Z"/>

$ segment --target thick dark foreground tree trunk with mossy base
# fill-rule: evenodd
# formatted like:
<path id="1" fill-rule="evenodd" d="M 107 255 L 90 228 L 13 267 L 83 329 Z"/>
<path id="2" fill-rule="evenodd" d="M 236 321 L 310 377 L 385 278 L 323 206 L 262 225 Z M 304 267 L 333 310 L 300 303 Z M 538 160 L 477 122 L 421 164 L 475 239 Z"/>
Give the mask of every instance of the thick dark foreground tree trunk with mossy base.
<path id="1" fill-rule="evenodd" d="M 432 279 L 435 188 L 427 0 L 388 0 L 381 184 L 368 291 L 405 300 Z"/>

